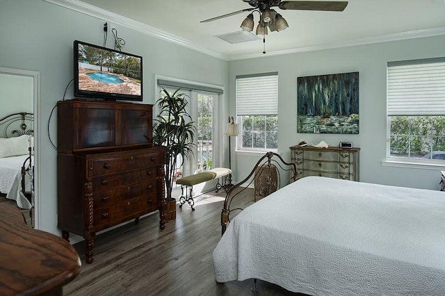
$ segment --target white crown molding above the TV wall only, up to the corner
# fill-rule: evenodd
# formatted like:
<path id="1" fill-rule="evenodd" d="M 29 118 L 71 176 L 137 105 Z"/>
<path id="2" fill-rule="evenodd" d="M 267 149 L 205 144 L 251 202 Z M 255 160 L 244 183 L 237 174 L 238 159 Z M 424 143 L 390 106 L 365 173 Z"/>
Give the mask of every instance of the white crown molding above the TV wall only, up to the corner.
<path id="1" fill-rule="evenodd" d="M 140 33 L 144 33 L 168 42 L 172 42 L 181 45 L 182 47 L 193 49 L 194 51 L 199 51 L 202 54 L 207 54 L 209 56 L 213 56 L 215 58 L 220 58 L 223 60 L 229 60 L 228 56 L 216 53 L 214 51 L 210 51 L 209 49 L 201 47 L 198 44 L 195 44 L 183 38 L 179 38 L 170 33 L 161 31 L 158 28 L 154 28 L 153 26 L 137 22 L 133 19 L 129 19 L 128 17 L 123 17 L 122 15 L 118 15 L 116 13 L 111 13 L 108 10 L 97 8 L 96 6 L 92 6 L 88 3 L 79 0 L 42 0 L 42 1 L 76 11 L 77 13 L 82 13 L 83 15 L 95 17 L 96 19 L 102 19 L 105 22 L 110 22 L 112 24 L 119 24 L 120 26 L 131 28 L 133 30 L 139 31 Z"/>

